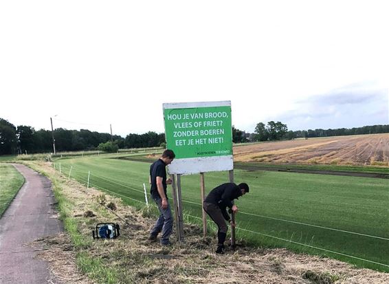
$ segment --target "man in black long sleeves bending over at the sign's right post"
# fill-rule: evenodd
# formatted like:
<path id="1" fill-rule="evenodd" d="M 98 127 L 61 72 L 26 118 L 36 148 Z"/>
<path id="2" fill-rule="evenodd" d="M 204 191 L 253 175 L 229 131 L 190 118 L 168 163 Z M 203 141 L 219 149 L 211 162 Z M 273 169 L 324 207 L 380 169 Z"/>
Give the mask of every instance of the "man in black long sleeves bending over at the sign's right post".
<path id="1" fill-rule="evenodd" d="M 224 241 L 228 230 L 227 223 L 225 223 L 224 219 L 230 221 L 230 215 L 228 215 L 226 210 L 227 207 L 234 213 L 238 212 L 238 207 L 236 207 L 235 204 L 232 204 L 232 200 L 238 199 L 238 197 L 241 197 L 248 192 L 249 186 L 247 184 L 242 183 L 236 185 L 229 182 L 212 189 L 208 196 L 205 197 L 203 208 L 219 229 L 217 231 L 218 245 L 216 253 L 224 253 Z M 231 223 L 231 226 L 235 226 L 235 224 Z"/>

